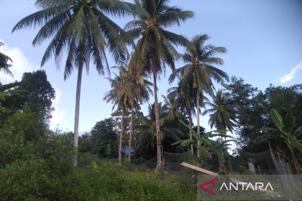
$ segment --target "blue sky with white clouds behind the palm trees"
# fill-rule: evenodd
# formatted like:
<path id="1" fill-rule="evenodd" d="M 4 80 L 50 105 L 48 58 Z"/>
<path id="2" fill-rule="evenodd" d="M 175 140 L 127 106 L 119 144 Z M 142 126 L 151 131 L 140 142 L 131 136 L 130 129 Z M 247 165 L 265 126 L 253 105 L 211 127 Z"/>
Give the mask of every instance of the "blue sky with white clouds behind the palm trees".
<path id="1" fill-rule="evenodd" d="M 242 77 L 246 83 L 262 90 L 270 83 L 281 86 L 302 83 L 302 1 L 173 0 L 170 5 L 179 5 L 195 12 L 194 19 L 171 29 L 173 32 L 190 38 L 195 34 L 207 33 L 211 36 L 209 44 L 227 48 L 228 53 L 220 55 L 225 61 L 220 68 L 229 76 Z M 37 47 L 31 45 L 37 29 L 11 34 L 11 29 L 19 20 L 37 11 L 33 0 L 16 0 L 14 3 L 2 1 L 1 8 L 0 41 L 5 46 L 0 51 L 14 60 L 11 71 L 15 77 L 0 75 L 0 80 L 9 83 L 20 80 L 23 72 L 40 69 L 48 41 Z M 115 22 L 124 27 L 130 20 L 116 19 Z M 178 50 L 183 51 L 182 48 Z M 107 57 L 109 65 L 114 66 L 111 56 L 108 54 Z M 54 60 L 50 60 L 43 67 L 57 94 L 51 128 L 59 124 L 62 130 L 67 128 L 73 131 L 76 73 L 64 82 L 64 66 L 61 66 L 61 70 L 56 70 Z M 181 63 L 176 64 L 176 67 L 181 66 Z M 175 83 L 169 86 L 167 82 L 170 73 L 167 69 L 166 77 L 158 82 L 159 96 L 175 86 Z M 82 80 L 80 133 L 90 130 L 96 121 L 110 116 L 112 105 L 102 100 L 108 90 L 108 81 L 99 76 L 91 65 L 89 76 L 83 74 Z M 146 105 L 142 106 L 142 110 L 146 114 Z M 207 121 L 207 116 L 202 117 L 201 126 L 210 130 Z"/>

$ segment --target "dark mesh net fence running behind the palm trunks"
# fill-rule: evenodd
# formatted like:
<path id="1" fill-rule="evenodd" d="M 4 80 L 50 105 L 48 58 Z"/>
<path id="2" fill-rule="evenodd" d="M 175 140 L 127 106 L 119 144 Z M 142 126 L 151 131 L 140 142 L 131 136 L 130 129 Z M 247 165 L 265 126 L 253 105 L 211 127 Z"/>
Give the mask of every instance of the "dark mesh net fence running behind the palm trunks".
<path id="1" fill-rule="evenodd" d="M 169 171 L 182 171 L 185 167 L 181 165 L 182 162 L 191 163 L 191 153 L 170 153 L 162 152 L 162 161 L 164 170 Z M 194 152 L 197 155 L 197 152 Z M 125 156 L 127 157 L 127 156 Z M 233 174 L 295 174 L 293 167 L 289 165 L 288 160 L 276 155 L 277 167 L 274 164 L 270 151 L 261 153 L 249 153 L 238 151 L 236 155 L 228 155 L 225 157 L 226 161 L 224 166 L 226 171 Z M 86 167 L 87 165 L 95 162 L 101 165 L 106 159 L 99 158 L 97 155 L 83 154 L 79 157 L 79 167 Z M 157 157 L 146 160 L 144 158 L 131 159 L 131 162 L 122 163 L 129 170 L 143 168 L 145 170 L 156 168 Z M 219 159 L 213 156 L 211 159 L 205 159 L 201 164 L 202 168 L 206 168 L 213 172 L 219 171 Z"/>

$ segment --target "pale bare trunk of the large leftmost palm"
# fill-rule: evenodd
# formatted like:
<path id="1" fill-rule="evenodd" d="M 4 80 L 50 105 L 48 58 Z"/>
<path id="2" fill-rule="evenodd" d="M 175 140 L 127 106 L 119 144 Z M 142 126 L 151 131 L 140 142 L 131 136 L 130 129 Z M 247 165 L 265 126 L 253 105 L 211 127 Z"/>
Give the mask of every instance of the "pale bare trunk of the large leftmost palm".
<path id="1" fill-rule="evenodd" d="M 78 80 L 76 84 L 76 110 L 75 110 L 75 124 L 74 124 L 74 132 L 73 132 L 73 146 L 78 149 L 78 139 L 79 139 L 79 115 L 80 115 L 80 96 L 81 96 L 81 84 L 82 84 L 82 71 L 83 67 L 79 67 L 78 70 Z M 77 164 L 77 152 L 74 158 L 74 167 Z"/>

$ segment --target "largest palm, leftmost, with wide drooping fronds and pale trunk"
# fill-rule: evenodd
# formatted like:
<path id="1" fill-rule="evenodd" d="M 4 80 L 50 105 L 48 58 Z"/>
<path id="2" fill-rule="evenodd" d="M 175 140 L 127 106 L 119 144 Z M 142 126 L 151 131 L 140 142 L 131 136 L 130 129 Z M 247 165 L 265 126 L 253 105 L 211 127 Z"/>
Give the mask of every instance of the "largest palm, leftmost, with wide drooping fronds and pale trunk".
<path id="1" fill-rule="evenodd" d="M 105 47 L 108 47 L 116 62 L 127 56 L 125 32 L 107 15 L 124 17 L 135 14 L 135 9 L 135 12 L 142 9 L 118 0 L 36 0 L 36 6 L 40 10 L 20 20 L 12 32 L 41 27 L 32 42 L 33 46 L 52 39 L 42 58 L 41 67 L 54 56 L 59 68 L 62 52 L 67 49 L 64 80 L 75 69 L 78 71 L 73 138 L 74 146 L 77 147 L 83 68 L 88 73 L 92 59 L 98 74 L 110 72 Z"/>

